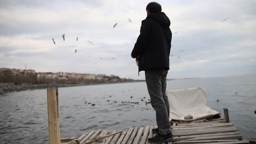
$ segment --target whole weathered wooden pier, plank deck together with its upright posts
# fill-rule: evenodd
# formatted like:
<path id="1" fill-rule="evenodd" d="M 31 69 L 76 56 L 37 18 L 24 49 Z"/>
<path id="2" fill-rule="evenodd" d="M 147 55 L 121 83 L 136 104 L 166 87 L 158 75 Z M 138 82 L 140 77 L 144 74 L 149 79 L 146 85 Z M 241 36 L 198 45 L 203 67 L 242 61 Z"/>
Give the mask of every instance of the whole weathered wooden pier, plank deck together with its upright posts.
<path id="1" fill-rule="evenodd" d="M 132 127 L 128 131 L 101 130 L 85 132 L 78 137 L 60 138 L 58 89 L 47 89 L 49 144 L 151 144 L 153 128 L 157 126 Z M 162 144 L 256 144 L 243 141 L 242 135 L 229 121 L 227 108 L 222 120 L 201 123 L 174 124 L 171 131 L 174 140 Z M 97 141 L 95 141 L 97 139 Z"/>

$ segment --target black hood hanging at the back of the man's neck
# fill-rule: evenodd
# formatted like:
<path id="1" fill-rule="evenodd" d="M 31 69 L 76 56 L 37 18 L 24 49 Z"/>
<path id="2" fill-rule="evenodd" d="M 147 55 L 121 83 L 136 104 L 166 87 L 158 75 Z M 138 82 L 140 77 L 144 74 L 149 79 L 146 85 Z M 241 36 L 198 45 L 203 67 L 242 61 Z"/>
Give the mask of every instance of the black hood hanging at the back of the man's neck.
<path id="1" fill-rule="evenodd" d="M 170 27 L 171 21 L 164 12 L 153 13 L 147 16 L 159 23 L 163 28 Z"/>

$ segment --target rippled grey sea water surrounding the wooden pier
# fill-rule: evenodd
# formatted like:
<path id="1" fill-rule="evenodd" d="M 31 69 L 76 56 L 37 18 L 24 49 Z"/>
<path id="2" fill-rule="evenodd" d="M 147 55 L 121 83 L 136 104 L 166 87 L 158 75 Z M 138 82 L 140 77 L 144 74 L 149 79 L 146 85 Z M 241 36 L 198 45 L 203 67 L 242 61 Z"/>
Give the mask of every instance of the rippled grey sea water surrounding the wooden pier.
<path id="1" fill-rule="evenodd" d="M 167 81 L 167 90 L 192 87 L 206 89 L 211 108 L 221 113 L 224 107 L 229 108 L 230 121 L 243 138 L 256 141 L 256 76 Z M 146 98 L 141 101 L 143 97 Z M 145 82 L 59 88 L 61 137 L 97 129 L 127 131 L 133 126 L 156 125 L 153 108 L 145 105 L 148 99 Z M 35 141 L 48 143 L 46 90 L 0 96 L 0 144 L 35 144 Z"/>

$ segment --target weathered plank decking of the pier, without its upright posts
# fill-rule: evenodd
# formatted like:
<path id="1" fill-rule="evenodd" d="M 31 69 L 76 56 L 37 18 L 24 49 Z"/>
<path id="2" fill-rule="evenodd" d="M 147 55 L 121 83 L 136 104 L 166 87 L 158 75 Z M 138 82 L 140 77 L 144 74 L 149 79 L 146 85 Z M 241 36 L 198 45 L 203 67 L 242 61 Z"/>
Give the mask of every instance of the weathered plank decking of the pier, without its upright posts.
<path id="1" fill-rule="evenodd" d="M 134 127 L 128 131 L 105 138 L 102 142 L 95 141 L 92 144 L 151 144 L 149 137 L 153 137 L 152 128 Z M 80 144 L 91 141 L 96 136 L 105 136 L 116 131 L 98 130 L 82 134 L 80 137 L 62 138 L 61 144 L 68 144 L 73 139 L 78 139 Z M 234 127 L 233 123 L 225 121 L 210 121 L 193 124 L 177 124 L 172 126 L 174 140 L 167 144 L 249 144 L 243 141 L 242 135 Z M 165 143 L 162 143 L 165 144 Z"/>

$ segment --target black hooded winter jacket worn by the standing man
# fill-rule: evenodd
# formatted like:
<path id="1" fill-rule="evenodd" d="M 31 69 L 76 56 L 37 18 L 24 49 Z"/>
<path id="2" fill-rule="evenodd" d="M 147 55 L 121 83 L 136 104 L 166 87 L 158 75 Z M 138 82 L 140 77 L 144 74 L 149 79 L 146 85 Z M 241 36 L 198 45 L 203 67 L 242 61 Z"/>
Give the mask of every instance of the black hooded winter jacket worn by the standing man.
<path id="1" fill-rule="evenodd" d="M 163 12 L 150 14 L 142 20 L 140 35 L 131 52 L 131 56 L 140 56 L 139 72 L 149 69 L 170 69 L 170 24 L 169 18 Z"/>

